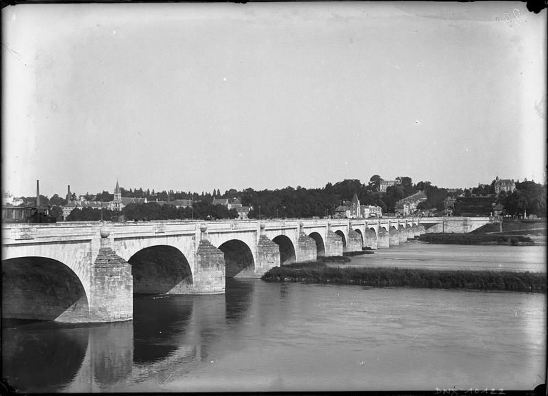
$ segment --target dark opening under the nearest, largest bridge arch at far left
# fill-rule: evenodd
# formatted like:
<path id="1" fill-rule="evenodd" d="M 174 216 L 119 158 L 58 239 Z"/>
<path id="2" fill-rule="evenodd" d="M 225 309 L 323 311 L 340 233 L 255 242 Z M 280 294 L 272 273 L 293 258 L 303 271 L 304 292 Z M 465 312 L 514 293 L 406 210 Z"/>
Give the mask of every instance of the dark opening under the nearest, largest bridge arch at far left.
<path id="1" fill-rule="evenodd" d="M 88 296 L 78 275 L 58 260 L 2 260 L 2 318 L 86 322 Z"/>

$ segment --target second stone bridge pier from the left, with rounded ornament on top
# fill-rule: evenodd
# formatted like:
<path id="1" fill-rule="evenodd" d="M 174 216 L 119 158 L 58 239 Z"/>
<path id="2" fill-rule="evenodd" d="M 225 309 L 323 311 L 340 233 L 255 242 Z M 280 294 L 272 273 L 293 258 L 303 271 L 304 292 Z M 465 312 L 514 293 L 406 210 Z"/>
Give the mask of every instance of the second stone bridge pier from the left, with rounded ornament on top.
<path id="1" fill-rule="evenodd" d="M 208 226 L 200 227 L 200 242 L 196 251 L 194 290 L 192 294 L 225 293 L 225 253 L 214 247 L 206 234 Z"/>

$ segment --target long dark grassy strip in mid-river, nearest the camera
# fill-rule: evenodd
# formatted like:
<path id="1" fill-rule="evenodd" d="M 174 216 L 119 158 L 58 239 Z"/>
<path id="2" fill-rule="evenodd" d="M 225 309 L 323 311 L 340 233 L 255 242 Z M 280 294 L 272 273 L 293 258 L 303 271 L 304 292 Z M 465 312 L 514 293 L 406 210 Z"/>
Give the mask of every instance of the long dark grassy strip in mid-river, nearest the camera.
<path id="1" fill-rule="evenodd" d="M 327 267 L 308 262 L 275 267 L 262 275 L 266 282 L 359 284 L 363 286 L 411 286 L 416 288 L 458 288 L 512 290 L 546 293 L 544 273 L 510 271 L 461 271 L 399 268 Z"/>

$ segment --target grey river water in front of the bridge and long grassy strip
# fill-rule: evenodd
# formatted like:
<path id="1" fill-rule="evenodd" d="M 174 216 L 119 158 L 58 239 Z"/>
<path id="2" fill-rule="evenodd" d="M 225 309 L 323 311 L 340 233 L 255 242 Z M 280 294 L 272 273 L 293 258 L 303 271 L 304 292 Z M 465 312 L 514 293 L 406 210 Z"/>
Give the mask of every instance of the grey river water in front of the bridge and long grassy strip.
<path id="1" fill-rule="evenodd" d="M 450 267 L 440 245 L 422 254 L 432 246 Z M 226 295 L 136 298 L 123 323 L 4 321 L 3 377 L 21 392 L 532 389 L 545 382 L 546 303 L 229 279 Z"/>

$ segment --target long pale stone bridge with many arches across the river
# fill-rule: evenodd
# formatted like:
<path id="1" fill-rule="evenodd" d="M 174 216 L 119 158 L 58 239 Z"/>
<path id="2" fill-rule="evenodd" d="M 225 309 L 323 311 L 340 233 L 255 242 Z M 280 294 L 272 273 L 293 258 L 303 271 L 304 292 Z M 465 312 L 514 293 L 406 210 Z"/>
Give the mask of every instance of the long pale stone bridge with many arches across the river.
<path id="1" fill-rule="evenodd" d="M 132 319 L 134 294 L 218 294 L 226 277 L 387 248 L 488 218 L 151 221 L 4 224 L 2 317 L 61 322 Z"/>

